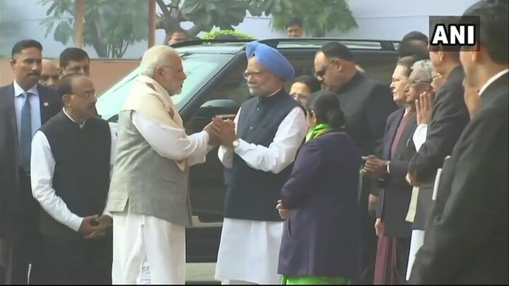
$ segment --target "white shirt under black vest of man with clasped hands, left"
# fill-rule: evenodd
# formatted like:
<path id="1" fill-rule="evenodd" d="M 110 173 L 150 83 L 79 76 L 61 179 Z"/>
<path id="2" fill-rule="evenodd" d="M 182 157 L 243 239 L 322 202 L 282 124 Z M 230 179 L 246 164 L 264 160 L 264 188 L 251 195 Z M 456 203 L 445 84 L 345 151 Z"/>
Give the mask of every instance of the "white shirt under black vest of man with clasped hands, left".
<path id="1" fill-rule="evenodd" d="M 69 114 L 64 109 L 64 114 L 66 114 L 69 119 L 74 121 Z M 76 123 L 76 121 L 74 121 Z M 79 124 L 80 128 L 82 128 L 86 122 L 83 124 Z M 110 175 L 113 167 L 113 163 L 115 162 L 115 157 L 117 157 L 117 136 L 115 136 L 115 132 L 110 129 L 111 133 L 111 155 L 110 155 Z M 76 162 L 79 164 L 79 162 Z M 83 222 L 83 218 L 79 217 L 75 213 L 72 213 L 69 208 L 67 208 L 66 203 L 62 198 L 57 196 L 57 193 L 53 189 L 53 174 L 54 174 L 55 160 L 52 154 L 51 147 L 49 146 L 49 142 L 47 141 L 45 133 L 42 131 L 37 131 L 32 140 L 32 155 L 30 160 L 30 177 L 32 182 L 32 193 L 34 198 L 39 201 L 42 208 L 52 216 L 57 222 L 66 225 L 71 228 L 75 232 L 78 232 L 81 222 Z M 103 212 L 105 215 L 110 215 L 110 213 Z"/>

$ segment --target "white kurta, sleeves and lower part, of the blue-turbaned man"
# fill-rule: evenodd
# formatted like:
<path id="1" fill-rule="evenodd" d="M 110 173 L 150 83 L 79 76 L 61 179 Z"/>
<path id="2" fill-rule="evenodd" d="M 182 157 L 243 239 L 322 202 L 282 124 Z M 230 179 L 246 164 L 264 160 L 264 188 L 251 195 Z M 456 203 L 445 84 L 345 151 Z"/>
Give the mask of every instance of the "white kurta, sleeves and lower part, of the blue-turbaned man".
<path id="1" fill-rule="evenodd" d="M 238 114 L 235 123 L 238 122 Z M 218 157 L 223 165 L 232 167 L 233 153 L 236 153 L 253 169 L 277 174 L 295 160 L 307 131 L 304 112 L 300 107 L 295 107 L 279 124 L 269 147 L 240 139 L 235 150 L 221 146 Z M 274 208 L 276 204 L 275 201 Z M 277 266 L 282 235 L 283 222 L 225 218 L 216 263 L 216 280 L 221 280 L 223 284 L 279 284 L 281 275 L 277 274 Z"/>

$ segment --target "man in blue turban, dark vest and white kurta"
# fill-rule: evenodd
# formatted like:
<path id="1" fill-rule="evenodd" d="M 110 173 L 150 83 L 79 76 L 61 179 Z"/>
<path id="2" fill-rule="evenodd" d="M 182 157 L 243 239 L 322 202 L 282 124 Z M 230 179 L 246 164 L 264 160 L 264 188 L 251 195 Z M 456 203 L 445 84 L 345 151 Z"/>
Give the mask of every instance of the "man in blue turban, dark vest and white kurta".
<path id="1" fill-rule="evenodd" d="M 293 67 L 276 49 L 247 44 L 244 73 L 251 95 L 230 129 L 221 129 L 218 157 L 226 167 L 225 215 L 216 264 L 223 284 L 279 284 L 283 221 L 281 187 L 308 131 L 303 109 L 283 89 Z"/>

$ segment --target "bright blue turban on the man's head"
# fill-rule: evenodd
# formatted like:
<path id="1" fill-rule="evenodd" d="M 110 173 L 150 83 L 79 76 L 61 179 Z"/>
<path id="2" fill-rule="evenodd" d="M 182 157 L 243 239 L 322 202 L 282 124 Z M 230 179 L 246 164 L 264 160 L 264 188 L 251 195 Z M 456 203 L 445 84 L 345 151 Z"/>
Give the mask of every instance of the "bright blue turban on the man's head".
<path id="1" fill-rule="evenodd" d="M 277 49 L 262 44 L 260 42 L 250 42 L 246 47 L 247 59 L 256 57 L 259 64 L 267 68 L 274 76 L 281 78 L 282 81 L 290 81 L 295 76 L 295 70 Z"/>

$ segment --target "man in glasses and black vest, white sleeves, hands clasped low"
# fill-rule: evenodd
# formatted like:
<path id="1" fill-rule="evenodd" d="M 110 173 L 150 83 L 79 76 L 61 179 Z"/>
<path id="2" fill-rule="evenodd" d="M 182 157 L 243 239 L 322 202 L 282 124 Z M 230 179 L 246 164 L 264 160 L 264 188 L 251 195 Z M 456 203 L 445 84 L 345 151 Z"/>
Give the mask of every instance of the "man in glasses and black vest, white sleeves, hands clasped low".
<path id="1" fill-rule="evenodd" d="M 115 133 L 95 118 L 95 89 L 81 73 L 59 85 L 64 109 L 32 141 L 33 196 L 40 217 L 45 282 L 110 284 L 111 215 L 103 210 L 115 158 Z M 106 234 L 101 237 L 102 234 Z"/>

